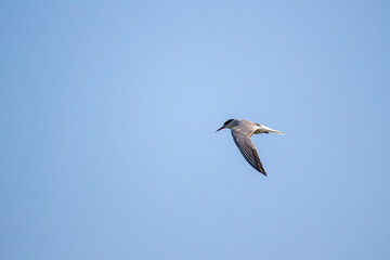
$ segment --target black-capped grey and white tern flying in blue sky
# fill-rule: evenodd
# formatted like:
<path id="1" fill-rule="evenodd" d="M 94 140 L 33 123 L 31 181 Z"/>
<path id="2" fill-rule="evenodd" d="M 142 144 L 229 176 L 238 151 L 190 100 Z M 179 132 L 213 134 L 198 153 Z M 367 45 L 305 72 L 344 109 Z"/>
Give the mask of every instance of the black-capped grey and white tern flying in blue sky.
<path id="1" fill-rule="evenodd" d="M 232 130 L 233 140 L 237 145 L 239 152 L 243 154 L 244 158 L 249 162 L 249 165 L 251 165 L 251 167 L 253 167 L 262 174 L 266 176 L 266 172 L 257 153 L 256 146 L 253 142 L 250 140 L 250 138 L 253 134 L 259 134 L 259 133 L 273 132 L 277 134 L 283 134 L 283 132 L 244 119 L 229 119 L 216 132 L 224 128 Z"/>

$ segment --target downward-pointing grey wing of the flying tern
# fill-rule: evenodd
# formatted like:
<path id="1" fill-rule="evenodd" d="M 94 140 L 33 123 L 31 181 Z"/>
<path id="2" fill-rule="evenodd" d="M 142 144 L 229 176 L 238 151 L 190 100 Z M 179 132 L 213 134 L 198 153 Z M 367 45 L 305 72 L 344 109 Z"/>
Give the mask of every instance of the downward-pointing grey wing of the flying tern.
<path id="1" fill-rule="evenodd" d="M 255 169 L 266 176 L 266 172 L 262 167 L 259 155 L 257 153 L 256 146 L 253 142 L 250 140 L 250 136 L 253 133 L 250 131 L 251 131 L 250 129 L 236 129 L 236 130 L 232 129 L 233 140 L 236 143 L 239 152 L 249 162 L 249 165 L 251 165 Z"/>

